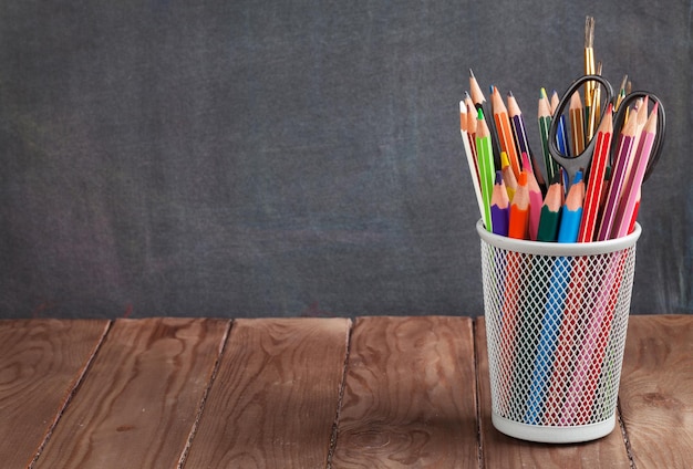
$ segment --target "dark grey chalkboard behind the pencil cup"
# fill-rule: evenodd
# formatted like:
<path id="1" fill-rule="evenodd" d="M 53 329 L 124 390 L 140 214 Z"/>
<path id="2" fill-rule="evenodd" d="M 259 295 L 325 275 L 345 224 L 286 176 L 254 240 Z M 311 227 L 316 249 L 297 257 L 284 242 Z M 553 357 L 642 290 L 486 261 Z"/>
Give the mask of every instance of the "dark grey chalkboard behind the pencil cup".
<path id="1" fill-rule="evenodd" d="M 633 313 L 693 312 L 690 2 L 6 1 L 0 316 L 483 313 L 472 67 L 668 111 Z"/>

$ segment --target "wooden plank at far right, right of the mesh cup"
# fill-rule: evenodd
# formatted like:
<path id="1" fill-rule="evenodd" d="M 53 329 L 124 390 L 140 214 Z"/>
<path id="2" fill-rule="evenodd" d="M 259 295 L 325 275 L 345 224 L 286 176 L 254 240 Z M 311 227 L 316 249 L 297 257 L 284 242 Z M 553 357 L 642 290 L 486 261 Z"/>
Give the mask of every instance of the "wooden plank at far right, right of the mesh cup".
<path id="1" fill-rule="evenodd" d="M 693 316 L 630 317 L 619 398 L 635 467 L 693 467 Z"/>

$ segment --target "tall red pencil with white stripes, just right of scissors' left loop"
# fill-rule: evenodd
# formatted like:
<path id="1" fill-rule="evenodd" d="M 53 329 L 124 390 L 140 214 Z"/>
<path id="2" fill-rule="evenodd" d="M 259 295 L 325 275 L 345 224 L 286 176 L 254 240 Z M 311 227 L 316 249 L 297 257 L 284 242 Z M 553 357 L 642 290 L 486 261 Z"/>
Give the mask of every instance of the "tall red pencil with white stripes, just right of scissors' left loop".
<path id="1" fill-rule="evenodd" d="M 579 242 L 590 242 L 594 238 L 597 217 L 604 186 L 607 165 L 609 164 L 609 150 L 611 146 L 611 135 L 613 133 L 613 118 L 611 115 L 611 103 L 599 124 L 597 132 L 594 153 L 589 174 L 587 176 L 587 192 L 585 195 L 585 208 L 582 221 L 580 222 Z"/>

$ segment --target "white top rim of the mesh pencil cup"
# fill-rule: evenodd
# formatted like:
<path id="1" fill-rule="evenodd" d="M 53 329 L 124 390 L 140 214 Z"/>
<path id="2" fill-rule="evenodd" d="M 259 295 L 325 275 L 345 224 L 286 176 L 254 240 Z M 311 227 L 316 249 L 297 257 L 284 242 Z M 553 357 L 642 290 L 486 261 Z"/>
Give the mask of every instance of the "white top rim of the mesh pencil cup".
<path id="1" fill-rule="evenodd" d="M 476 231 L 488 244 L 507 251 L 540 256 L 596 256 L 620 251 L 634 246 L 640 238 L 642 228 L 640 223 L 635 222 L 635 227 L 630 234 L 592 242 L 542 242 L 508 238 L 486 230 L 482 219 L 476 222 Z"/>

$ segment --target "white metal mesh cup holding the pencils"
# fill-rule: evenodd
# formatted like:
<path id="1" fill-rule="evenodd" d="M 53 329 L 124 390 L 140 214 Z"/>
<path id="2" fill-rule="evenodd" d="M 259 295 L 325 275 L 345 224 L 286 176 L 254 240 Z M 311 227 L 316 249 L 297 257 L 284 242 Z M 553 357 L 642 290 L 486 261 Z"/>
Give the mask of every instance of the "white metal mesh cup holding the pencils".
<path id="1" fill-rule="evenodd" d="M 500 237 L 480 220 L 476 228 L 494 427 L 542 442 L 610 434 L 640 226 L 587 243 Z"/>

